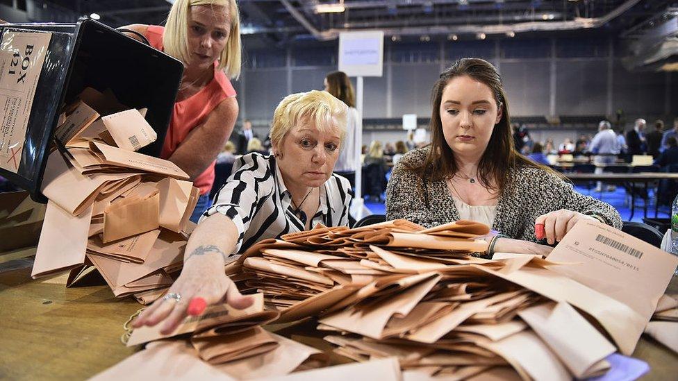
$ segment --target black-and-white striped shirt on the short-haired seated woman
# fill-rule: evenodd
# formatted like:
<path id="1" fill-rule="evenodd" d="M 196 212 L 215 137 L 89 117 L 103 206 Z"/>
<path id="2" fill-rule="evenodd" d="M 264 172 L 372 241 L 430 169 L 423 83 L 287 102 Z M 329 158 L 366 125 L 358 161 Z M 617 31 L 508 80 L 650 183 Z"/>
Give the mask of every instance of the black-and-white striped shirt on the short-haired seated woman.
<path id="1" fill-rule="evenodd" d="M 352 196 L 349 180 L 333 173 L 320 187 L 320 205 L 311 226 L 317 223 L 348 226 Z M 217 212 L 233 220 L 238 228 L 234 253 L 241 253 L 262 239 L 305 230 L 304 223 L 294 214 L 291 194 L 273 155 L 249 153 L 235 160 L 231 177 L 201 220 Z"/>

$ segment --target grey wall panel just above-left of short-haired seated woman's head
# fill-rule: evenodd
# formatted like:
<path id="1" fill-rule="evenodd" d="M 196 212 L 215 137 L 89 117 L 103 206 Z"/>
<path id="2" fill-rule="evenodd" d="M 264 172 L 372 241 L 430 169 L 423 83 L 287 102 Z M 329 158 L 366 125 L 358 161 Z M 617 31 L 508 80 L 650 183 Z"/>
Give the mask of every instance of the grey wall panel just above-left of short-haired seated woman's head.
<path id="1" fill-rule="evenodd" d="M 245 105 L 248 119 L 271 120 L 273 110 L 287 94 L 287 70 L 267 69 L 245 74 Z"/>

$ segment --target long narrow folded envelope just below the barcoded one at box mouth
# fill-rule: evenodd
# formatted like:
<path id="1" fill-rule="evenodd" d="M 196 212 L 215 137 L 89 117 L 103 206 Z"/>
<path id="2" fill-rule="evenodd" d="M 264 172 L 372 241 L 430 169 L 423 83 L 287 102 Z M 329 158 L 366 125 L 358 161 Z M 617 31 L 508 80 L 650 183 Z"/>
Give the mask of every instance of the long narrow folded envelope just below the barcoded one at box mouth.
<path id="1" fill-rule="evenodd" d="M 176 164 L 169 160 L 154 158 L 141 153 L 125 151 L 117 147 L 108 146 L 97 142 L 90 144 L 90 149 L 94 153 L 100 153 L 105 164 L 116 167 L 126 167 L 131 169 L 138 169 L 140 171 L 147 171 L 152 173 L 160 173 L 161 175 L 179 178 L 180 180 L 188 180 L 188 175 L 176 167 Z"/>

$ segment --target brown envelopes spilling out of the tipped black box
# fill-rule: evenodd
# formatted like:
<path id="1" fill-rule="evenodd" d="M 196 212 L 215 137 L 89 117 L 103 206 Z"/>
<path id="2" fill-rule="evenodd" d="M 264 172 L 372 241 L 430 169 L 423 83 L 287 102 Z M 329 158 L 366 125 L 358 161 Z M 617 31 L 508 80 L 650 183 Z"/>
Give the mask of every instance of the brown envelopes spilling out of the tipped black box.
<path id="1" fill-rule="evenodd" d="M 156 139 L 143 112 L 103 114 L 123 106 L 92 89 L 80 98 L 54 133 L 32 276 L 70 270 L 69 286 L 94 266 L 115 296 L 150 303 L 181 269 L 199 189 L 174 163 L 135 152 Z"/>

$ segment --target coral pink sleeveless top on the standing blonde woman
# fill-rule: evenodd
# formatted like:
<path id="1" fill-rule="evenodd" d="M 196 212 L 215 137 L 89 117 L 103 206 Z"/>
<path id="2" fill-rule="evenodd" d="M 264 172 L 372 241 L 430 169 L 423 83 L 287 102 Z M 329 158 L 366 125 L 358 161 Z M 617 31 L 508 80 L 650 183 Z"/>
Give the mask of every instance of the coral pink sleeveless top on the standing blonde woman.
<path id="1" fill-rule="evenodd" d="M 151 25 L 146 33 L 146 38 L 151 46 L 159 51 L 163 51 L 164 32 L 163 26 Z M 214 78 L 210 83 L 190 98 L 174 103 L 172 120 L 169 121 L 160 158 L 167 159 L 172 156 L 172 153 L 188 136 L 188 133 L 199 126 L 221 101 L 230 96 L 235 96 L 235 90 L 229 78 L 223 71 L 217 70 L 217 62 L 214 62 L 214 66 Z M 200 188 L 200 194 L 207 194 L 212 188 L 215 162 L 216 160 L 203 173 L 200 173 L 193 182 L 196 187 Z"/>

